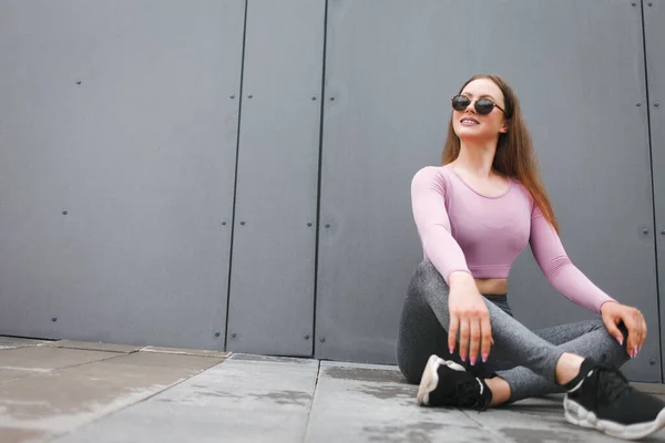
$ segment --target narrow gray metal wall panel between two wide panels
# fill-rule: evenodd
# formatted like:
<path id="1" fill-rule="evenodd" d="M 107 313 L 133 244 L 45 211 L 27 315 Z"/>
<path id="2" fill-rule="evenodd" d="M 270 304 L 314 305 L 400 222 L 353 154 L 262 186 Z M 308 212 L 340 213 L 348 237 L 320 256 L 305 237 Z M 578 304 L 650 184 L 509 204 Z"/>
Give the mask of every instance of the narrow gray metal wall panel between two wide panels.
<path id="1" fill-rule="evenodd" d="M 247 6 L 227 349 L 311 356 L 325 0 Z"/>

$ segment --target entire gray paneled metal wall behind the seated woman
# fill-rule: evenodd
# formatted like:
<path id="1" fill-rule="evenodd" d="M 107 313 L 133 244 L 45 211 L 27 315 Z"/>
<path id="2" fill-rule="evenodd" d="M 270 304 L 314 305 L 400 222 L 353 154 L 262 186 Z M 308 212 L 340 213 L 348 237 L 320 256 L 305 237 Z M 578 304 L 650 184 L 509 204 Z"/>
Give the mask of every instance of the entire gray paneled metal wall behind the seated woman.
<path id="1" fill-rule="evenodd" d="M 573 262 L 646 316 L 628 375 L 661 381 L 649 3 L 1 0 L 0 333 L 393 363 L 411 177 L 492 72 Z M 510 292 L 530 327 L 593 317 L 529 250 Z"/>

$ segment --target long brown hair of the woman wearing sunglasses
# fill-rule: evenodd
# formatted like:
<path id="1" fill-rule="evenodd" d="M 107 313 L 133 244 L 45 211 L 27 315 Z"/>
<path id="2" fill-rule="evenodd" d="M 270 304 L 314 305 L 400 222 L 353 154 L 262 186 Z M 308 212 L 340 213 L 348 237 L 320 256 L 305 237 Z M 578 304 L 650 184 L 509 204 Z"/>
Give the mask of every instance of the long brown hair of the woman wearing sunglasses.
<path id="1" fill-rule="evenodd" d="M 543 186 L 538 167 L 538 158 L 531 142 L 531 135 L 526 130 L 520 102 L 513 90 L 498 75 L 479 74 L 469 79 L 462 87 L 460 94 L 469 83 L 478 79 L 489 79 L 501 89 L 503 93 L 505 119 L 508 122 L 508 132 L 499 135 L 497 143 L 497 153 L 492 164 L 494 171 L 500 174 L 516 178 L 524 185 L 540 207 L 543 216 L 559 231 L 559 225 L 552 210 L 552 205 L 548 198 L 548 193 Z M 454 161 L 460 154 L 460 138 L 452 128 L 452 119 L 448 124 L 448 137 L 441 156 L 442 164 L 446 165 Z"/>

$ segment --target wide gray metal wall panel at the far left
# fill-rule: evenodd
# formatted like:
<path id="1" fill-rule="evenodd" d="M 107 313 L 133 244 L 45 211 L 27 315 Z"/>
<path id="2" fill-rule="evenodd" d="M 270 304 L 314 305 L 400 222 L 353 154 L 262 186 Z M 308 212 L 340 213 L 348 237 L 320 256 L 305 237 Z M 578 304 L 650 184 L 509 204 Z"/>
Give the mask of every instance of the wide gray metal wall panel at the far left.
<path id="1" fill-rule="evenodd" d="M 223 348 L 244 12 L 0 3 L 0 333 Z"/>

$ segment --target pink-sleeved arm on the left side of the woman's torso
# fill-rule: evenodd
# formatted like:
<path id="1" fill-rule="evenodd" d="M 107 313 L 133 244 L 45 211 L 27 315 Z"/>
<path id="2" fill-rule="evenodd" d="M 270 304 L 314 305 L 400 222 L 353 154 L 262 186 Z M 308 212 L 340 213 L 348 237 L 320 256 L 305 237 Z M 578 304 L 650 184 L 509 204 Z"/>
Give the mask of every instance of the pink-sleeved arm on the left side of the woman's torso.
<path id="1" fill-rule="evenodd" d="M 460 245 L 450 231 L 446 210 L 446 178 L 433 166 L 420 169 L 411 181 L 411 205 L 424 255 L 450 286 L 452 272 L 471 275 Z"/>

